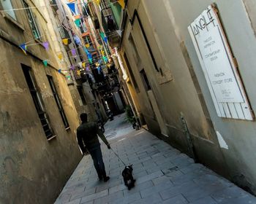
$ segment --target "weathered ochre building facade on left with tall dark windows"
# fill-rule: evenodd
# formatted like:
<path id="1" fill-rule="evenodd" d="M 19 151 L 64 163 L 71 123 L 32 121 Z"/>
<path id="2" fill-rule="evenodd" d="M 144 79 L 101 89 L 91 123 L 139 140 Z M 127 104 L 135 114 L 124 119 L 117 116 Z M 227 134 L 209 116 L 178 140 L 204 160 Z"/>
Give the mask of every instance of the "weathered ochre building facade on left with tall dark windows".
<path id="1" fill-rule="evenodd" d="M 81 158 L 75 136 L 78 113 L 66 76 L 58 71 L 46 5 L 48 1 L 27 0 L 0 4 L 0 203 L 4 204 L 53 203 Z"/>

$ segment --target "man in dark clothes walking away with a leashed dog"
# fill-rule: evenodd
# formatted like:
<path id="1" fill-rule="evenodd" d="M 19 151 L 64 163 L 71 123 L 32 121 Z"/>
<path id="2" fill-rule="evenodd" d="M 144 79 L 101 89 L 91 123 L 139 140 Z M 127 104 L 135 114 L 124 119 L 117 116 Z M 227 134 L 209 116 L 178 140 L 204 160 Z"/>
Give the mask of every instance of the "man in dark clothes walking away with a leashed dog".
<path id="1" fill-rule="evenodd" d="M 87 114 L 80 114 L 80 119 L 82 124 L 77 129 L 78 145 L 83 153 L 86 152 L 86 148 L 88 149 L 92 160 L 94 160 L 94 167 L 99 176 L 99 180 L 102 181 L 103 179 L 106 182 L 109 180 L 109 176 L 106 175 L 98 136 L 108 146 L 108 149 L 110 149 L 110 144 L 108 144 L 102 131 L 99 130 L 97 123 L 87 121 Z"/>

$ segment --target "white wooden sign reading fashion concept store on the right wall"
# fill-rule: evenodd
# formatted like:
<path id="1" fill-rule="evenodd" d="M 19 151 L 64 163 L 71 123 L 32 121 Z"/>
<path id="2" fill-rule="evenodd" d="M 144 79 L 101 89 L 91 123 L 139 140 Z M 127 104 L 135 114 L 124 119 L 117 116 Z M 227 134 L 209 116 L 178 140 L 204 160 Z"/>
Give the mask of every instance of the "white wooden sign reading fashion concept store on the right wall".
<path id="1" fill-rule="evenodd" d="M 218 115 L 253 119 L 233 55 L 213 6 L 195 19 L 189 26 L 189 34 Z"/>

